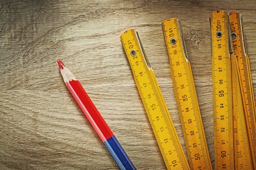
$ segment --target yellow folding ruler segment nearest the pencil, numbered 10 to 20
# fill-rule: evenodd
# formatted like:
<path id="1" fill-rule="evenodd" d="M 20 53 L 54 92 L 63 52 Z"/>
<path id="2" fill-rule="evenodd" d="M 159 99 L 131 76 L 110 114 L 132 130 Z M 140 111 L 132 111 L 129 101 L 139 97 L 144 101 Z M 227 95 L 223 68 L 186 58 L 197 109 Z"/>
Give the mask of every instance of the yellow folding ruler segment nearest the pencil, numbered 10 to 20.
<path id="1" fill-rule="evenodd" d="M 137 31 L 134 29 L 125 31 L 120 38 L 167 169 L 189 170 L 175 127 Z"/>

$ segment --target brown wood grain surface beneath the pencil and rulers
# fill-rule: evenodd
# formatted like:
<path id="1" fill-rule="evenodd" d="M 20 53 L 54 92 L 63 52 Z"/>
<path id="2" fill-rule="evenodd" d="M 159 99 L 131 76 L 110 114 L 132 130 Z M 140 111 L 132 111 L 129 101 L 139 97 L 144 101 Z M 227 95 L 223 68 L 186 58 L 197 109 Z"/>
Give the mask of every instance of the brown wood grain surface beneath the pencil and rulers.
<path id="1" fill-rule="evenodd" d="M 180 18 L 214 165 L 210 12 L 239 11 L 256 91 L 254 0 L 0 0 L 0 169 L 118 170 L 68 91 L 75 74 L 139 170 L 166 169 L 122 32 L 137 28 L 183 149 L 161 22 Z"/>

